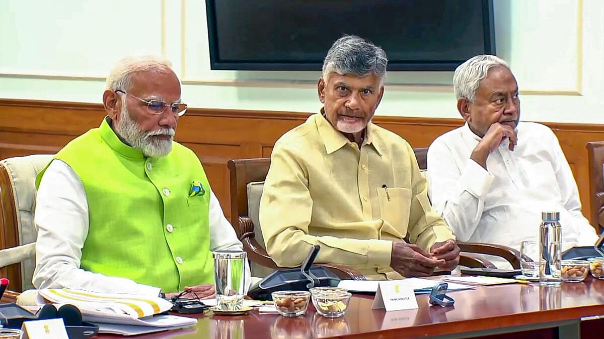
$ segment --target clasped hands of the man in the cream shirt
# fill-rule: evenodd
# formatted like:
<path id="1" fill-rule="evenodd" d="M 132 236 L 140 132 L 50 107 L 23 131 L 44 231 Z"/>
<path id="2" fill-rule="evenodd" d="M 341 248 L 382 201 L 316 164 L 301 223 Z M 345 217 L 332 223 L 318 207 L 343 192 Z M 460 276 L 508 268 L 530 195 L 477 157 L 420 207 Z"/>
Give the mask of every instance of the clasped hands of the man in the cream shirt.
<path id="1" fill-rule="evenodd" d="M 415 244 L 394 241 L 390 267 L 404 277 L 424 277 L 434 273 L 437 267 L 452 270 L 459 263 L 459 247 L 449 239 L 435 243 L 430 253 Z"/>

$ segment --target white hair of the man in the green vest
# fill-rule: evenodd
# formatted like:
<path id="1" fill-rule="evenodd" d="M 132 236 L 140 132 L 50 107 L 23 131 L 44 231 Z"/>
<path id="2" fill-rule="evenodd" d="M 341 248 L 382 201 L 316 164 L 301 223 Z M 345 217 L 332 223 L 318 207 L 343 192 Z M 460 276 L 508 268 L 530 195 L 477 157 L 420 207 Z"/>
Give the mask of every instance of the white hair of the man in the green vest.
<path id="1" fill-rule="evenodd" d="M 132 75 L 138 72 L 171 71 L 172 64 L 161 57 L 143 55 L 125 57 L 118 61 L 105 80 L 105 88 L 124 90 L 127 92 L 132 87 Z"/>

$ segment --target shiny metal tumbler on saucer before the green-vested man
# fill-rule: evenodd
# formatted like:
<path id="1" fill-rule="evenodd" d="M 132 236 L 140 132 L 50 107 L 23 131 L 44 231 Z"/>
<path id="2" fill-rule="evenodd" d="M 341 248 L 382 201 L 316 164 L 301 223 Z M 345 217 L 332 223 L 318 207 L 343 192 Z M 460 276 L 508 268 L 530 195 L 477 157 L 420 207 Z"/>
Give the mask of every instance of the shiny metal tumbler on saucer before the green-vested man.
<path id="1" fill-rule="evenodd" d="M 212 254 L 216 306 L 225 311 L 239 311 L 245 295 L 245 262 L 248 255 L 242 251 L 218 251 Z"/>

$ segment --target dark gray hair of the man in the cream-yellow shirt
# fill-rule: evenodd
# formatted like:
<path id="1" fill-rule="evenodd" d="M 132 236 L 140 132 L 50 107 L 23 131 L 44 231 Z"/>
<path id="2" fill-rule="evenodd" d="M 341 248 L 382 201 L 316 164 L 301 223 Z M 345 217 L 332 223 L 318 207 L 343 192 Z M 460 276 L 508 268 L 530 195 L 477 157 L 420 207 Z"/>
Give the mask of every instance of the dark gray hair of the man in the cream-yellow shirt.
<path id="1" fill-rule="evenodd" d="M 384 49 L 358 36 L 343 36 L 336 40 L 323 61 L 323 79 L 330 72 L 364 77 L 373 74 L 384 83 L 388 59 Z"/>

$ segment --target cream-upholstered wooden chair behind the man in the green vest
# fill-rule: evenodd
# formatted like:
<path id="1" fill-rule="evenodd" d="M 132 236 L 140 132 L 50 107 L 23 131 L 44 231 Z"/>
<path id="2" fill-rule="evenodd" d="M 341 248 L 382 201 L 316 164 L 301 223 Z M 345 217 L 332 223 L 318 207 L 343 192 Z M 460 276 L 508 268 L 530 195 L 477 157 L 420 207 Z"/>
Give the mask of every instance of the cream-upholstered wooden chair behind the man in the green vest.
<path id="1" fill-rule="evenodd" d="M 0 160 L 0 274 L 10 279 L 10 289 L 33 288 L 37 232 L 35 179 L 53 154 L 34 154 Z"/>

